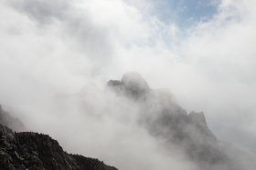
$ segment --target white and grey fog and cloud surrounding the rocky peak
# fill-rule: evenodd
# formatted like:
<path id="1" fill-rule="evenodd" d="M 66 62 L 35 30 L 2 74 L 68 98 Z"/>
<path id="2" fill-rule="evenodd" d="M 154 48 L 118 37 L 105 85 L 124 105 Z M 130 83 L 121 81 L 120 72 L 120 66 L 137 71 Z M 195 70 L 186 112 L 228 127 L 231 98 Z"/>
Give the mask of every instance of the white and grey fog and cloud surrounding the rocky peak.
<path id="1" fill-rule="evenodd" d="M 139 103 L 106 86 L 135 71 L 253 157 L 256 3 L 214 1 L 216 14 L 186 26 L 163 18 L 163 3 L 1 0 L 0 104 L 70 153 L 123 170 L 198 169 L 140 124 Z"/>

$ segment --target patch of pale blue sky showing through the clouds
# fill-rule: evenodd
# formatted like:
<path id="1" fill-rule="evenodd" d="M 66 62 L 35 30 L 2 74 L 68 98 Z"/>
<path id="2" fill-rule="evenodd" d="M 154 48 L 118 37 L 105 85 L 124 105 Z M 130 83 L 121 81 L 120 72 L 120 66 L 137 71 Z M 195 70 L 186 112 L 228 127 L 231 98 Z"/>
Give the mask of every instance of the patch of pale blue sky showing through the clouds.
<path id="1" fill-rule="evenodd" d="M 165 22 L 187 26 L 210 19 L 218 12 L 217 0 L 160 0 L 157 7 Z"/>

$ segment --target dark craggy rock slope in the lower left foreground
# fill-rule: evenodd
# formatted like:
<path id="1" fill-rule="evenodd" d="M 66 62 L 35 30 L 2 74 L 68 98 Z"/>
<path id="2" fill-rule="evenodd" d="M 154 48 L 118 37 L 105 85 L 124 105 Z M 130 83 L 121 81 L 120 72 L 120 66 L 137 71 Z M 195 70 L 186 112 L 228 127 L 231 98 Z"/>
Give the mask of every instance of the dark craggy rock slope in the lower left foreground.
<path id="1" fill-rule="evenodd" d="M 69 155 L 48 135 L 14 133 L 1 124 L 0 169 L 117 170 L 98 159 Z"/>

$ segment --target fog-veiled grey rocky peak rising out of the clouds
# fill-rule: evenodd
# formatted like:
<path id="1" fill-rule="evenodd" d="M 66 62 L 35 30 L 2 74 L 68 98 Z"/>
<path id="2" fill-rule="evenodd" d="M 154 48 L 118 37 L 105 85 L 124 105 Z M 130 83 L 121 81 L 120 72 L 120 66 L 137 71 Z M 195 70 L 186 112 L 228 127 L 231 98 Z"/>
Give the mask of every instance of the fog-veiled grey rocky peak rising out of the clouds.
<path id="1" fill-rule="evenodd" d="M 187 115 L 171 95 L 150 89 L 137 74 L 125 74 L 122 81 L 111 80 L 108 85 L 117 94 L 139 103 L 141 116 L 138 122 L 151 135 L 165 139 L 166 145 L 177 145 L 200 165 L 228 161 L 227 155 L 219 148 L 219 141 L 209 130 L 203 113 L 191 112 Z"/>

